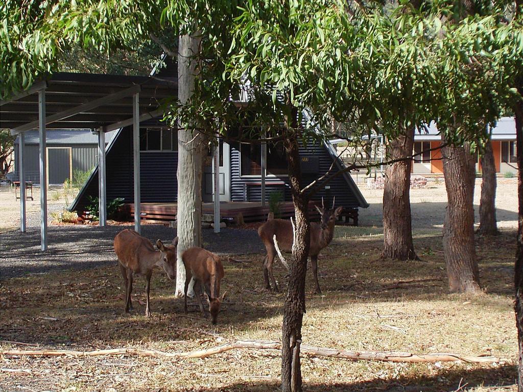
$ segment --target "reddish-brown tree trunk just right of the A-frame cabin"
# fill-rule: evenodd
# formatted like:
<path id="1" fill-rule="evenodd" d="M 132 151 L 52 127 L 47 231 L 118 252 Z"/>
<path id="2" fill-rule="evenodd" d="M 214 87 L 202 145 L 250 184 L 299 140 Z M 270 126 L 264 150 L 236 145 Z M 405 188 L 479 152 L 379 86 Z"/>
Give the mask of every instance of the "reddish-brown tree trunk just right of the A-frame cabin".
<path id="1" fill-rule="evenodd" d="M 414 130 L 405 130 L 403 136 L 390 142 L 391 159 L 412 155 Z M 388 165 L 383 189 L 383 253 L 382 257 L 395 260 L 417 259 L 412 242 L 411 219 L 412 159 Z"/>

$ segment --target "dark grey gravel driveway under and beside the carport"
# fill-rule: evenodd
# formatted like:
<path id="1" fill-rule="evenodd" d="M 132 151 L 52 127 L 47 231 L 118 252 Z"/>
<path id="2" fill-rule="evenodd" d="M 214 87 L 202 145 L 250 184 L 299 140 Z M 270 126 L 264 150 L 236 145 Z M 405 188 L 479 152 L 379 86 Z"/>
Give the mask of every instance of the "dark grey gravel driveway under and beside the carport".
<path id="1" fill-rule="evenodd" d="M 50 226 L 49 248 L 40 250 L 39 228 L 27 233 L 13 230 L 0 234 L 0 280 L 33 273 L 86 269 L 116 265 L 112 248 L 115 235 L 133 226 Z M 142 234 L 153 242 L 170 243 L 176 230 L 162 225 L 144 225 Z M 241 255 L 265 250 L 256 230 L 224 228 L 220 233 L 203 230 L 203 246 L 219 255 Z"/>

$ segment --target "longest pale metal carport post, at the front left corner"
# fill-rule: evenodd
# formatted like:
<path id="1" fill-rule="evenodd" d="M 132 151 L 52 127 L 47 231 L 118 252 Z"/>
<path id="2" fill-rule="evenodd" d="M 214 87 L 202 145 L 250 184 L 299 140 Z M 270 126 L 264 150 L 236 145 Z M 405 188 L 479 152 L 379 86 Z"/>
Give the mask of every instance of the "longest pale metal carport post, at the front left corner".
<path id="1" fill-rule="evenodd" d="M 46 154 L 46 90 L 38 91 L 38 131 L 40 136 L 40 240 L 47 250 L 47 154 Z"/>

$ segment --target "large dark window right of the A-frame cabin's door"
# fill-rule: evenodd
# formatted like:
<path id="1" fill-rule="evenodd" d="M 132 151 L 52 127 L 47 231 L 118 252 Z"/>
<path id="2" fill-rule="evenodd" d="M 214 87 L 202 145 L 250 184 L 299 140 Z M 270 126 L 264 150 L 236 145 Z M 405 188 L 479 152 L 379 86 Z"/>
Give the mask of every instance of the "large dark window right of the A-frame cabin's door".
<path id="1" fill-rule="evenodd" d="M 242 176 L 261 176 L 261 145 L 241 144 Z M 283 144 L 267 144 L 267 175 L 287 175 Z"/>

